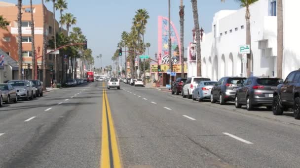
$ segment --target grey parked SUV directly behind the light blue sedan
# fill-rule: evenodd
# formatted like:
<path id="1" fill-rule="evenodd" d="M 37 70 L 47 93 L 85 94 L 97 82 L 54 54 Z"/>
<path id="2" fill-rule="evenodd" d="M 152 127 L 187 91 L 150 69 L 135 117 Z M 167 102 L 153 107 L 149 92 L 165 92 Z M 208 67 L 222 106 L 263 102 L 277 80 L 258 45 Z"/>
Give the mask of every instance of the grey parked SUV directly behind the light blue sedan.
<path id="1" fill-rule="evenodd" d="M 211 103 L 216 103 L 217 100 L 220 101 L 220 105 L 224 105 L 226 101 L 234 101 L 235 93 L 238 84 L 244 83 L 246 78 L 242 77 L 223 77 L 217 84 L 212 88 L 210 101 Z"/>

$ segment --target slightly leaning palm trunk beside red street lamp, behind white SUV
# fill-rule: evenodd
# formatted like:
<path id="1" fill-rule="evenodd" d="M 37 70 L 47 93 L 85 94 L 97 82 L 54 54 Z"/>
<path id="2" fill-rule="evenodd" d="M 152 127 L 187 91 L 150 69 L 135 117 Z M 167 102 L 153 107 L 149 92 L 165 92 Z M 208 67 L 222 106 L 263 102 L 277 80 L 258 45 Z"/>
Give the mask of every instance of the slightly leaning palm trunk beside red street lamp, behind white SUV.
<path id="1" fill-rule="evenodd" d="M 191 0 L 191 5 L 193 8 L 193 18 L 196 30 L 196 45 L 197 45 L 197 76 L 202 76 L 201 71 L 201 46 L 200 46 L 200 29 L 199 29 L 199 18 L 198 18 L 198 8 L 197 0 Z"/>

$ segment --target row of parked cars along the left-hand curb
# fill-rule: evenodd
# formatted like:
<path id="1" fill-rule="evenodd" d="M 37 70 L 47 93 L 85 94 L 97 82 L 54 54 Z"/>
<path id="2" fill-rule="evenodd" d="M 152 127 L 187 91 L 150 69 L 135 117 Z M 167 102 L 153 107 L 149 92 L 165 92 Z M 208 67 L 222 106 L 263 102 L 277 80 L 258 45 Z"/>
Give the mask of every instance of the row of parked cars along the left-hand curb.
<path id="1" fill-rule="evenodd" d="M 12 80 L 0 84 L 0 106 L 3 102 L 17 103 L 19 99 L 33 100 L 43 96 L 42 82 L 39 80 Z"/>

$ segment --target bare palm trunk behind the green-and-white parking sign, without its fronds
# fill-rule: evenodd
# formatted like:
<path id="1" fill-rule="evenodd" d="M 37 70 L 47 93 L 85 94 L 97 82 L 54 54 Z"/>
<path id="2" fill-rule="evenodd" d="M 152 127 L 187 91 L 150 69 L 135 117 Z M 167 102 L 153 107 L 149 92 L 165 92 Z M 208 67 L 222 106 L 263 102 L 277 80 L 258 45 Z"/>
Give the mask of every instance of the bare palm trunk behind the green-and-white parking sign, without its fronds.
<path id="1" fill-rule="evenodd" d="M 251 45 L 251 30 L 250 30 L 250 11 L 249 11 L 249 6 L 246 6 L 246 44 Z M 250 54 L 247 54 L 247 77 L 250 77 L 251 74 L 251 50 Z"/>

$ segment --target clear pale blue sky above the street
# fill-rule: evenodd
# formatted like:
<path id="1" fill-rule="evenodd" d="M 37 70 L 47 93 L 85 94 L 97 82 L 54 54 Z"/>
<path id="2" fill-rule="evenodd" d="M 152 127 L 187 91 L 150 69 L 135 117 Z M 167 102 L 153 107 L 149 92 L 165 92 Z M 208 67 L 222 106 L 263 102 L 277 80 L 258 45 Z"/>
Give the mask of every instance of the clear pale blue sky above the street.
<path id="1" fill-rule="evenodd" d="M 2 0 L 17 3 L 17 0 Z M 29 4 L 29 0 L 23 0 L 23 4 Z M 145 42 L 150 42 L 150 56 L 154 57 L 157 51 L 157 16 L 168 17 L 168 0 L 67 0 L 68 9 L 77 18 L 76 27 L 80 27 L 88 39 L 88 48 L 96 57 L 102 54 L 103 66 L 112 64 L 111 57 L 120 41 L 122 31 L 130 31 L 132 18 L 135 11 L 145 8 L 149 12 L 150 19 L 147 24 Z M 33 0 L 34 4 L 41 0 Z M 171 20 L 178 32 L 180 0 L 171 0 Z M 185 46 L 192 40 L 193 15 L 190 0 L 184 0 L 185 7 Z M 52 2 L 46 4 L 52 11 Z M 235 0 L 198 0 L 199 24 L 205 32 L 211 31 L 211 23 L 214 13 L 219 10 L 238 9 L 239 4 Z M 59 18 L 59 12 L 56 12 Z M 124 54 L 123 54 L 124 55 Z M 122 56 L 122 64 L 124 56 Z M 98 67 L 97 58 L 95 66 Z"/>

